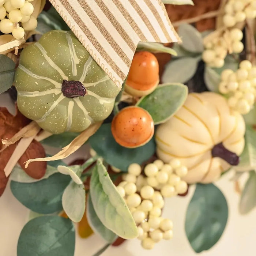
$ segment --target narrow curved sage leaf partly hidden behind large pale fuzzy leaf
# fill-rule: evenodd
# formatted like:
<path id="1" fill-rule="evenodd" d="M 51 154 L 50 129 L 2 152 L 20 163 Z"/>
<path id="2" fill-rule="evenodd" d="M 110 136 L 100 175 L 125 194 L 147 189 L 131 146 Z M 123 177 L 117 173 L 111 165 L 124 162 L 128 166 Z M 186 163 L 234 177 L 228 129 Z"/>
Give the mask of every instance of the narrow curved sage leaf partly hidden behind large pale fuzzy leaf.
<path id="1" fill-rule="evenodd" d="M 91 202 L 90 194 L 87 197 L 86 216 L 91 229 L 93 229 L 95 233 L 98 233 L 103 239 L 105 239 L 109 243 L 112 243 L 114 240 L 116 240 L 116 234 L 106 228 L 97 216 L 93 207 L 93 202 Z"/>

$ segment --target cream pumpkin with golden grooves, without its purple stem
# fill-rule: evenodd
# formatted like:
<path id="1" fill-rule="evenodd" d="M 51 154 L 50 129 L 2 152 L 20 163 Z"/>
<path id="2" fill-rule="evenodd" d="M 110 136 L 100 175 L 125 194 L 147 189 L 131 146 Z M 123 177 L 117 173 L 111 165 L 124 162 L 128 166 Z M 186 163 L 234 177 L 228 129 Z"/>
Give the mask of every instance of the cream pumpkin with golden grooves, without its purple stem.
<path id="1" fill-rule="evenodd" d="M 227 101 L 212 92 L 191 93 L 184 105 L 156 131 L 157 154 L 164 162 L 180 159 L 188 167 L 184 180 L 210 183 L 230 165 L 212 157 L 212 148 L 222 143 L 237 155 L 244 149 L 245 122 Z"/>

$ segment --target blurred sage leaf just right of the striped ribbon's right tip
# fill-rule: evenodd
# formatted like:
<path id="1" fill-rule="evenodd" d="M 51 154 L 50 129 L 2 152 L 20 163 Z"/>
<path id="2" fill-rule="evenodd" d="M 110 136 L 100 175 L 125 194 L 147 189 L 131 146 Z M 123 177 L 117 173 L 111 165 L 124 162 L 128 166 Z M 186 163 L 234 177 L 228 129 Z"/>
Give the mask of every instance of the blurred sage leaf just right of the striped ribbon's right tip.
<path id="1" fill-rule="evenodd" d="M 179 26 L 179 36 L 182 39 L 182 47 L 185 50 L 197 53 L 203 52 L 203 38 L 195 27 L 189 24 L 181 24 Z"/>

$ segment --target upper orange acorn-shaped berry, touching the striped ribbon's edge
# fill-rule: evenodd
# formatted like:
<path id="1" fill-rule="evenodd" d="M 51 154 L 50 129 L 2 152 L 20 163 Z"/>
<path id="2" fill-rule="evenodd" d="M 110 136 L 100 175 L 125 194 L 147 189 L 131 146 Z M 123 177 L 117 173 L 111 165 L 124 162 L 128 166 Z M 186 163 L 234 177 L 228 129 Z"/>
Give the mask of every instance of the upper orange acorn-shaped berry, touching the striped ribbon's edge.
<path id="1" fill-rule="evenodd" d="M 133 96 L 150 94 L 159 84 L 159 64 L 154 54 L 136 52 L 129 70 L 125 91 Z"/>

